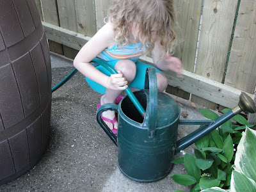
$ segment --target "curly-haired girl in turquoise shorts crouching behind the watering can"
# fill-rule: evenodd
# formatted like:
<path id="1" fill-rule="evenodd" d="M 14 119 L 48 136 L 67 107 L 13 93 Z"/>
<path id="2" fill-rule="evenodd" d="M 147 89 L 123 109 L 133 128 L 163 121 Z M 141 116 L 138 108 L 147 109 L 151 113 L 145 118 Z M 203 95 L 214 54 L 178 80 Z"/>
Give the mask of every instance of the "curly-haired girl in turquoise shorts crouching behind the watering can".
<path id="1" fill-rule="evenodd" d="M 138 61 L 141 54 L 151 53 L 156 65 L 157 88 L 163 92 L 167 79 L 160 70 L 173 70 L 182 76 L 181 62 L 170 56 L 175 45 L 176 20 L 174 0 L 115 0 L 108 22 L 78 52 L 74 67 L 93 90 L 102 93 L 100 104 L 114 103 L 127 86 L 143 89 L 145 72 L 151 67 Z M 107 61 L 118 74 L 104 67 L 94 67 L 93 58 Z M 108 127 L 117 132 L 114 111 L 102 113 Z"/>

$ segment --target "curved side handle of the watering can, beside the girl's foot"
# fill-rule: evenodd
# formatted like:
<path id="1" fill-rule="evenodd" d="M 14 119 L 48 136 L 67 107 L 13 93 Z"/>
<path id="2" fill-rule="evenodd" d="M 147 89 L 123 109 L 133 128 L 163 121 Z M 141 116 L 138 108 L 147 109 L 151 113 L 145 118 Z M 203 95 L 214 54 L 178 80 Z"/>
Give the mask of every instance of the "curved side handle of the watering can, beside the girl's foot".
<path id="1" fill-rule="evenodd" d="M 117 146 L 116 135 L 113 134 L 111 129 L 109 129 L 108 125 L 106 125 L 104 120 L 102 120 L 102 118 L 100 117 L 104 111 L 108 111 L 108 110 L 115 111 L 116 113 L 118 113 L 118 105 L 113 104 L 113 103 L 107 103 L 107 104 L 100 106 L 99 109 L 97 110 L 96 118 L 97 118 L 97 122 L 100 124 L 100 127 L 102 127 L 102 129 L 106 132 L 106 134 L 109 136 L 109 138 Z"/>

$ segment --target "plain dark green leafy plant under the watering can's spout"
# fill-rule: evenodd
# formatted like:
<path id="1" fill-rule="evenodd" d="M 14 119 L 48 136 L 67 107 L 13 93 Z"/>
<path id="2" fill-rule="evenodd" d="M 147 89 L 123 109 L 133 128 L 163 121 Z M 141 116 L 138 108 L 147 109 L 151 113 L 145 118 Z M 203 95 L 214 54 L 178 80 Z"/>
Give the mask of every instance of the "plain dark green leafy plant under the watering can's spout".
<path id="1" fill-rule="evenodd" d="M 210 120 L 218 118 L 218 115 L 209 109 L 199 109 L 200 113 Z M 230 109 L 223 109 L 227 113 Z M 233 117 L 240 125 L 232 125 L 228 120 L 204 138 L 196 141 L 195 156 L 185 154 L 184 157 L 173 160 L 173 163 L 184 163 L 188 174 L 174 174 L 172 179 L 181 185 L 195 186 L 191 191 L 220 187 L 230 188 L 232 164 L 234 163 L 236 145 L 242 137 L 245 127 L 253 127 L 241 115 Z M 235 149 L 234 149 L 235 148 Z"/>

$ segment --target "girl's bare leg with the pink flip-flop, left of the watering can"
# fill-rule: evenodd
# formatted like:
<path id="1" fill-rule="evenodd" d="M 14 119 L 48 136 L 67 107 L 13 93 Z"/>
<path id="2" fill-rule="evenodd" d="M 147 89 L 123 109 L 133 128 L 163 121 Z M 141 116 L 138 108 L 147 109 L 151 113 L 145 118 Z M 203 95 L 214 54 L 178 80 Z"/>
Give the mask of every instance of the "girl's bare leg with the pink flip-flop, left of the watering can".
<path id="1" fill-rule="evenodd" d="M 119 60 L 115 65 L 115 70 L 120 70 L 122 74 L 124 74 L 124 77 L 128 81 L 128 84 L 130 84 L 134 77 L 136 76 L 136 65 L 131 60 Z M 100 98 L 100 104 L 114 103 L 118 95 L 120 95 L 122 92 L 123 90 L 106 89 L 105 95 L 102 95 L 102 97 Z M 102 113 L 102 116 L 109 118 L 110 120 L 113 120 L 113 118 L 115 118 L 115 111 L 105 111 Z M 108 125 L 110 129 L 118 129 L 117 122 L 115 122 L 114 125 L 106 121 L 105 123 L 106 125 Z"/>

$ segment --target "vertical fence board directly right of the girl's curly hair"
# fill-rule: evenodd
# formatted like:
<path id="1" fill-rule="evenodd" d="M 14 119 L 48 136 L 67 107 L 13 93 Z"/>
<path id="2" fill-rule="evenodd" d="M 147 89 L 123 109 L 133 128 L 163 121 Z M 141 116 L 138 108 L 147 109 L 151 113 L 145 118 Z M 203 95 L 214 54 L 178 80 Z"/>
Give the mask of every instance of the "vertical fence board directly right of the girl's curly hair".
<path id="1" fill-rule="evenodd" d="M 182 67 L 185 70 L 193 72 L 202 0 L 177 0 L 175 1 L 175 6 L 177 8 L 177 20 L 179 22 L 179 29 L 177 31 L 177 38 L 179 42 L 173 56 L 180 58 L 182 61 Z M 184 99 L 189 99 L 190 97 L 190 93 L 170 86 L 168 86 L 166 92 Z"/>

